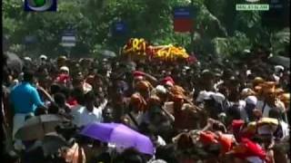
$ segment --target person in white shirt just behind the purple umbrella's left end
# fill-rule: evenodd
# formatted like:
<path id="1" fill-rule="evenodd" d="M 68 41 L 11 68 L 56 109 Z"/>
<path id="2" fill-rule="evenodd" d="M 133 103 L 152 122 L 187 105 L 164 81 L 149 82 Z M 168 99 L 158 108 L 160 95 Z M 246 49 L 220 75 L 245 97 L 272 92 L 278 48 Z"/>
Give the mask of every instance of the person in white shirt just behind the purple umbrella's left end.
<path id="1" fill-rule="evenodd" d="M 81 106 L 77 110 L 72 110 L 71 114 L 73 115 L 73 123 L 77 127 L 83 127 L 89 123 L 93 122 L 102 122 L 102 111 L 105 108 L 106 101 L 98 108 L 95 107 L 95 93 L 89 91 L 85 94 L 85 106 Z"/>

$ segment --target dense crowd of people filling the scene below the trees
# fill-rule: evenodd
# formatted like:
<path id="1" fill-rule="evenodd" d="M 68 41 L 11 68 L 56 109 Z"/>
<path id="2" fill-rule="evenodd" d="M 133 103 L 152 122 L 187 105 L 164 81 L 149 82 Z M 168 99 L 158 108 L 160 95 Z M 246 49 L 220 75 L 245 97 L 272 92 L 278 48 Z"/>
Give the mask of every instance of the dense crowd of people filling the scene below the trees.
<path id="1" fill-rule="evenodd" d="M 21 72 L 5 65 L 3 76 L 3 143 L 11 162 L 289 160 L 290 70 L 262 57 L 190 64 L 41 55 L 23 62 Z M 57 134 L 73 139 L 49 157 L 41 149 L 27 150 L 37 139 L 15 139 L 25 120 L 45 114 L 64 117 L 68 124 Z M 135 129 L 152 140 L 155 154 L 133 148 L 114 153 L 110 144 L 78 135 L 96 122 Z"/>

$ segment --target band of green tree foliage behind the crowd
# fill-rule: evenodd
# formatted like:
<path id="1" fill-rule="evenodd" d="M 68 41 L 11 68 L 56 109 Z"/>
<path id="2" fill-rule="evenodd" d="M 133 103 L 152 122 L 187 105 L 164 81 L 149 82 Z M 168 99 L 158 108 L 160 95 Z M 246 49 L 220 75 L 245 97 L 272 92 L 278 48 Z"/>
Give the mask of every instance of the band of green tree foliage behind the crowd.
<path id="1" fill-rule="evenodd" d="M 143 37 L 156 44 L 176 43 L 189 51 L 222 56 L 240 52 L 253 43 L 272 46 L 274 53 L 279 53 L 289 43 L 286 32 L 276 34 L 281 29 L 261 25 L 262 13 L 237 12 L 236 0 L 193 0 L 194 44 L 191 44 L 190 34 L 178 34 L 173 29 L 173 8 L 191 5 L 190 0 L 57 2 L 56 13 L 26 13 L 22 1 L 3 1 L 4 34 L 12 49 L 31 55 L 63 54 L 61 36 L 68 27 L 77 32 L 72 56 L 96 54 L 100 49 L 118 53 L 130 37 Z M 119 20 L 127 24 L 125 35 L 112 34 L 112 24 Z M 25 43 L 28 35 L 35 36 L 37 41 Z"/>

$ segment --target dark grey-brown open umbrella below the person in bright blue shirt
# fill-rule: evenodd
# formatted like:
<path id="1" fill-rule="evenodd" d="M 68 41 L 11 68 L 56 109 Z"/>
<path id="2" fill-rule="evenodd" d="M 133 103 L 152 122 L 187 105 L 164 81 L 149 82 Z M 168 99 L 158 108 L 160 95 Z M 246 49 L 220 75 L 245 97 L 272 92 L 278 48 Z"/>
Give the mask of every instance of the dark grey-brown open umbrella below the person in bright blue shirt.
<path id="1" fill-rule="evenodd" d="M 33 117 L 26 120 L 24 126 L 17 130 L 15 139 L 43 139 L 45 134 L 54 132 L 55 127 L 62 121 L 62 118 L 53 114 L 45 114 Z"/>

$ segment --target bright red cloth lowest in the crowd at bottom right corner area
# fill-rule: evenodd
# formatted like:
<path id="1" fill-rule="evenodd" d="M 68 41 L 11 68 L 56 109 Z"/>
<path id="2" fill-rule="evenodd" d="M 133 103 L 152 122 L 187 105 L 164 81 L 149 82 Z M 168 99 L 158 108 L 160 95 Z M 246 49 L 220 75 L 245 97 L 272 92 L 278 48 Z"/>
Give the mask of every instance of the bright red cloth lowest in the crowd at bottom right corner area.
<path id="1" fill-rule="evenodd" d="M 236 147 L 235 156 L 242 159 L 248 157 L 258 157 L 265 160 L 266 151 L 250 139 L 244 138 L 241 139 L 240 145 Z"/>

